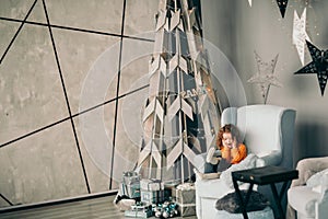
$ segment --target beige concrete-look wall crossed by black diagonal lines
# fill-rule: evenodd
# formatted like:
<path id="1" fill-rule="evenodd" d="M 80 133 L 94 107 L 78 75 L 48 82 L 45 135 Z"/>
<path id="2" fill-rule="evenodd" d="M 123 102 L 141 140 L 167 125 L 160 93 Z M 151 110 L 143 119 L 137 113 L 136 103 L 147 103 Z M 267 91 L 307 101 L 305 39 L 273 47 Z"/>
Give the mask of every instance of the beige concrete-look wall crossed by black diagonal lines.
<path id="1" fill-rule="evenodd" d="M 134 166 L 139 136 L 127 136 L 124 115 L 141 115 L 129 104 L 148 92 L 149 56 L 124 60 L 133 45 L 152 48 L 142 33 L 154 30 L 157 8 L 154 0 L 1 0 L 0 207 L 115 189 Z M 115 72 L 104 99 L 81 108 L 85 79 L 103 67 Z M 107 138 L 92 139 L 107 147 L 105 163 L 81 130 L 98 113 Z"/>

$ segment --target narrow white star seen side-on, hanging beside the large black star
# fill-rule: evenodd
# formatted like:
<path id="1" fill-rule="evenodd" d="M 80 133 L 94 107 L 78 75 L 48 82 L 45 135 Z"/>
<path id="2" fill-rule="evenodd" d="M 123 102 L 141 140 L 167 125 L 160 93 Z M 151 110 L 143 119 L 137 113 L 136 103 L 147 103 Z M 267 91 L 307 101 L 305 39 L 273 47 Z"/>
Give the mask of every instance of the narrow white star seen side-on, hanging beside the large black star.
<path id="1" fill-rule="evenodd" d="M 296 46 L 302 66 L 304 66 L 305 39 L 309 42 L 309 37 L 305 32 L 305 22 L 306 22 L 306 8 L 302 13 L 301 19 L 298 18 L 297 12 L 295 10 L 294 23 L 293 23 L 293 44 Z"/>

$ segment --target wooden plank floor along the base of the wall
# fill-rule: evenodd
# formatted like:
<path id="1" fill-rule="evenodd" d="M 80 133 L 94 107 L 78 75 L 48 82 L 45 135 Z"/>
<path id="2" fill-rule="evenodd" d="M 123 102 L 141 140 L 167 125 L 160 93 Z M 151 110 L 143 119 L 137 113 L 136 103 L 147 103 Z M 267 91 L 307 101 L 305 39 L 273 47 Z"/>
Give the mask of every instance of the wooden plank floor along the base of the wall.
<path id="1" fill-rule="evenodd" d="M 114 205 L 115 196 L 98 197 L 67 204 L 56 204 L 52 206 L 37 207 L 33 209 L 14 210 L 10 212 L 0 212 L 1 219 L 129 219 L 124 216 Z M 155 218 L 155 217 L 152 217 Z M 179 218 L 179 217 L 175 217 Z M 184 217 L 186 219 L 196 219 L 196 216 Z"/>

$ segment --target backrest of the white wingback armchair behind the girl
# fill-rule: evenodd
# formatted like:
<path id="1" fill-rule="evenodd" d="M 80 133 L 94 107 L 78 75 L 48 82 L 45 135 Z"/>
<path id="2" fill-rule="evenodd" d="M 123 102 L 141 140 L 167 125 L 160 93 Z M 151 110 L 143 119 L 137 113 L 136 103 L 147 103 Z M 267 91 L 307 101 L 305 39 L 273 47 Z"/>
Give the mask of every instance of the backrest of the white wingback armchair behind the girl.
<path id="1" fill-rule="evenodd" d="M 267 164 L 292 168 L 295 115 L 294 110 L 274 105 L 227 107 L 221 126 L 236 125 L 248 153 L 263 158 Z"/>

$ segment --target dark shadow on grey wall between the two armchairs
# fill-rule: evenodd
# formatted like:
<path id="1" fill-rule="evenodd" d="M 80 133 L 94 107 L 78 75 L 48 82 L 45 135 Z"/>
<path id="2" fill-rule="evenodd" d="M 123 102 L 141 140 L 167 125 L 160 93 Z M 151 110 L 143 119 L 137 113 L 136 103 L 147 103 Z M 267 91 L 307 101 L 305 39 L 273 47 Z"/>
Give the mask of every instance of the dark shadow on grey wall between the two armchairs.
<path id="1" fill-rule="evenodd" d="M 328 125 L 317 122 L 298 123 L 294 142 L 294 162 L 303 158 L 328 155 Z"/>

